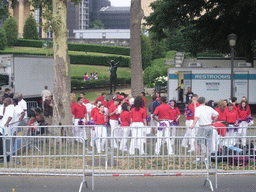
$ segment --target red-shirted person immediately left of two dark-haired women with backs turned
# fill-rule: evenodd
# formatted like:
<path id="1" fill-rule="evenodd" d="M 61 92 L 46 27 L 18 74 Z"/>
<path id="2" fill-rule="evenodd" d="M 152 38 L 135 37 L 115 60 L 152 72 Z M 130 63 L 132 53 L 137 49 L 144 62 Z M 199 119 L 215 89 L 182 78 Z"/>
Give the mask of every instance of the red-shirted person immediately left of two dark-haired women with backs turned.
<path id="1" fill-rule="evenodd" d="M 120 104 L 120 100 L 119 99 L 115 99 L 114 103 L 109 107 L 109 116 L 110 116 L 110 120 L 109 120 L 109 124 L 111 127 L 111 137 L 119 137 L 121 136 L 121 130 L 115 130 L 115 128 L 118 127 L 118 118 L 119 118 L 119 114 L 118 114 L 118 105 Z M 117 139 L 118 140 L 118 139 Z M 116 140 L 114 140 L 114 148 L 117 148 L 117 143 Z"/>

